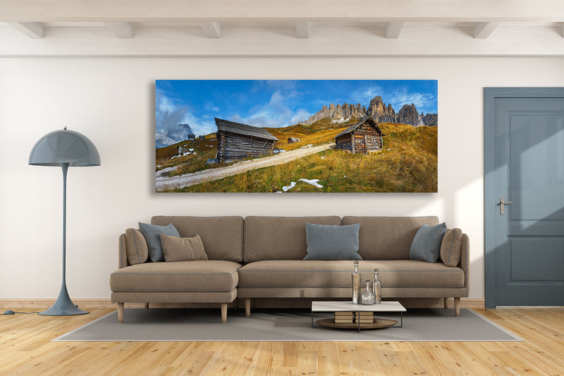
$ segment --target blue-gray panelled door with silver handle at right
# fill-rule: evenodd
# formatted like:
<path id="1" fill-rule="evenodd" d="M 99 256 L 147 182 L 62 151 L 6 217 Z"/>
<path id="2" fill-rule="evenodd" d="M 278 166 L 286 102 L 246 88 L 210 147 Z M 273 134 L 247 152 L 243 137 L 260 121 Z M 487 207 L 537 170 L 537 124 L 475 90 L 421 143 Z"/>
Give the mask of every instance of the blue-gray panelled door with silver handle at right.
<path id="1" fill-rule="evenodd" d="M 486 308 L 564 305 L 564 88 L 484 89 Z"/>

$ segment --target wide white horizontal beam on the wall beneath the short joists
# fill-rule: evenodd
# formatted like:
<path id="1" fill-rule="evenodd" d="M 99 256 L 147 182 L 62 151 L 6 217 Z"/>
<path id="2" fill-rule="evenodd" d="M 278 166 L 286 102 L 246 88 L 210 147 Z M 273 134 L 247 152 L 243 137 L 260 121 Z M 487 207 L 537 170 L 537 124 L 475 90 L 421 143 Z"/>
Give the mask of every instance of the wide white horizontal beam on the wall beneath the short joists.
<path id="1" fill-rule="evenodd" d="M 295 25 L 295 23 L 293 24 Z M 469 37 L 460 28 L 441 25 L 403 28 L 399 40 L 374 37 L 366 28 L 315 25 L 315 37 L 298 40 L 287 25 L 257 30 L 223 26 L 222 37 L 203 37 L 200 25 L 187 28 L 144 28 L 123 43 L 109 38 L 99 25 L 56 27 L 49 37 L 32 40 L 0 27 L 0 58 L 13 56 L 109 57 L 564 57 L 563 37 L 554 28 L 529 25 L 503 27 L 487 40 Z M 468 30 L 467 30 L 468 31 Z M 382 31 L 383 32 L 383 31 Z M 181 40 L 182 43 L 178 41 Z M 355 43 L 350 41 L 354 40 Z M 542 41 L 539 43 L 539 41 Z M 358 46 L 370 46 L 359 49 Z"/>

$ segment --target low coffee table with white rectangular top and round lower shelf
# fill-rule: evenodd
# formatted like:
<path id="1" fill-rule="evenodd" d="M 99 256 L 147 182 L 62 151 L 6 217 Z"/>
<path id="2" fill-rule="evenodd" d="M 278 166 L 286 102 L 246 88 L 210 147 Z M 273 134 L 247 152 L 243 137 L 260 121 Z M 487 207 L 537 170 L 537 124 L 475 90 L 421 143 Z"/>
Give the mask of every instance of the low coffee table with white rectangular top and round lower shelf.
<path id="1" fill-rule="evenodd" d="M 383 301 L 380 304 L 373 305 L 362 305 L 353 304 L 352 301 L 312 301 L 312 327 L 313 327 L 313 316 L 317 312 L 398 312 L 400 313 L 400 325 L 398 327 L 403 327 L 403 313 L 406 309 L 398 301 Z M 317 324 L 322 327 L 340 328 L 340 329 L 381 329 L 386 327 L 393 327 L 398 324 L 396 320 L 389 320 L 383 318 L 374 318 L 374 322 L 335 322 L 333 318 L 317 320 Z"/>

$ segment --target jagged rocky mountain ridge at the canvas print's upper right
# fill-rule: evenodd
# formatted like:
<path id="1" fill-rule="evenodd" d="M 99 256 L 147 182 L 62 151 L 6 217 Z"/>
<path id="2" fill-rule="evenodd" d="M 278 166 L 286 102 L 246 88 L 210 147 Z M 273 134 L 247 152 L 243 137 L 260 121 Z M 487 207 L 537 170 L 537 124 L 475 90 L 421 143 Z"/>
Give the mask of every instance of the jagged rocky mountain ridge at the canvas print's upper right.
<path id="1" fill-rule="evenodd" d="M 350 118 L 361 119 L 371 116 L 377 123 L 403 123 L 411 126 L 436 126 L 437 114 L 419 114 L 415 104 L 404 104 L 396 113 L 391 104 L 386 105 L 379 95 L 370 99 L 368 108 L 357 104 L 325 104 L 316 114 L 309 116 L 305 124 L 315 123 L 321 119 L 329 118 L 333 123 L 343 123 Z"/>

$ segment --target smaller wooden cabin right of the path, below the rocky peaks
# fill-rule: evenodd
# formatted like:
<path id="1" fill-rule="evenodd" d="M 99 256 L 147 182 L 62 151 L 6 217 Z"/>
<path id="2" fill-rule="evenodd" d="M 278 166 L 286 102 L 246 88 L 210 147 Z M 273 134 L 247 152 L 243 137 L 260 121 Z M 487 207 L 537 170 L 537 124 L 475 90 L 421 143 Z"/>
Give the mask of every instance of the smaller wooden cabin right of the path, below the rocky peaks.
<path id="1" fill-rule="evenodd" d="M 381 150 L 383 145 L 381 129 L 372 117 L 367 116 L 354 126 L 335 136 L 337 150 L 348 150 L 352 154 L 370 154 Z"/>

